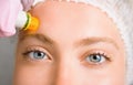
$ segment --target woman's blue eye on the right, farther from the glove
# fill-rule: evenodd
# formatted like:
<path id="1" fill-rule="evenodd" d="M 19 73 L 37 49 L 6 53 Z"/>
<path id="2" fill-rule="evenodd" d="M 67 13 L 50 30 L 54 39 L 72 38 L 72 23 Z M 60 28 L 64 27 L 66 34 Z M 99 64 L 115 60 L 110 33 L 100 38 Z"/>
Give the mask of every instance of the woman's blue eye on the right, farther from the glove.
<path id="1" fill-rule="evenodd" d="M 101 64 L 106 61 L 106 56 L 104 54 L 94 53 L 90 54 L 85 60 L 92 64 Z"/>

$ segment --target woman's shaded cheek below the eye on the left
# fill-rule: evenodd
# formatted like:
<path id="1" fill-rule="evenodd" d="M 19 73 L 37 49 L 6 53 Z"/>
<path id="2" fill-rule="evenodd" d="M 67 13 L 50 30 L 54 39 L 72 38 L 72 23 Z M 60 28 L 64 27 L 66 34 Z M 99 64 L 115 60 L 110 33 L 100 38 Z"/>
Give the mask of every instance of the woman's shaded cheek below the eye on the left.
<path id="1" fill-rule="evenodd" d="M 18 65 L 14 72 L 14 85 L 49 85 L 51 70 L 41 66 Z"/>

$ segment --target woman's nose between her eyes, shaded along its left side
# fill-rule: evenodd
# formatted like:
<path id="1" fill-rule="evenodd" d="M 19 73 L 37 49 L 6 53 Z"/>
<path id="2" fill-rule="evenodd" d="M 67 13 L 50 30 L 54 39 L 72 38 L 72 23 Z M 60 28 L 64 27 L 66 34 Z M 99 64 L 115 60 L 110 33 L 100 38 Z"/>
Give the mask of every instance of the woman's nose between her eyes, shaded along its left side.
<path id="1" fill-rule="evenodd" d="M 55 85 L 71 85 L 72 81 L 72 60 L 64 54 L 57 64 Z"/>

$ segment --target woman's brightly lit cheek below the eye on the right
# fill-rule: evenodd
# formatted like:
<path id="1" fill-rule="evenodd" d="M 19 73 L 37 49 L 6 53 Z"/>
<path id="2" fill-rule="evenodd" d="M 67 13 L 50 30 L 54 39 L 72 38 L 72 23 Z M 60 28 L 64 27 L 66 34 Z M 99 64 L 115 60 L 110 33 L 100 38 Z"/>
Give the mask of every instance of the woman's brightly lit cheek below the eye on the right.
<path id="1" fill-rule="evenodd" d="M 117 57 L 111 64 L 101 68 L 80 68 L 82 85 L 125 85 L 125 60 Z"/>

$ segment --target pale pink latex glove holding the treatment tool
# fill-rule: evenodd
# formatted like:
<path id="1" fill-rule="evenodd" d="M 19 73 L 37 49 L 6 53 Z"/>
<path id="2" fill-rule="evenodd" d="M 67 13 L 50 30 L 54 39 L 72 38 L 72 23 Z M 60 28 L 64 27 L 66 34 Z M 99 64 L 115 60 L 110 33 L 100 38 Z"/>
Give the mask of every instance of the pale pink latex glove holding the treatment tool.
<path id="1" fill-rule="evenodd" d="M 0 0 L 0 36 L 16 33 L 18 13 L 29 10 L 33 0 Z"/>

